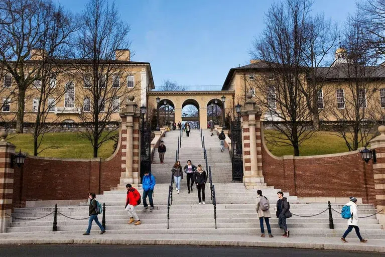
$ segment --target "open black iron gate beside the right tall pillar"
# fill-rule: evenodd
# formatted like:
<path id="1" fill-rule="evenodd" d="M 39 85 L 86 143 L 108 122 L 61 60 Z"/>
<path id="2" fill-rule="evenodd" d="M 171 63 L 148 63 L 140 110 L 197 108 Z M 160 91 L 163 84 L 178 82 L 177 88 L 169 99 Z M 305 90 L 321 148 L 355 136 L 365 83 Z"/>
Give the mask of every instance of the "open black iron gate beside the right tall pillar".
<path id="1" fill-rule="evenodd" d="M 243 180 L 242 129 L 240 121 L 231 121 L 232 181 Z"/>

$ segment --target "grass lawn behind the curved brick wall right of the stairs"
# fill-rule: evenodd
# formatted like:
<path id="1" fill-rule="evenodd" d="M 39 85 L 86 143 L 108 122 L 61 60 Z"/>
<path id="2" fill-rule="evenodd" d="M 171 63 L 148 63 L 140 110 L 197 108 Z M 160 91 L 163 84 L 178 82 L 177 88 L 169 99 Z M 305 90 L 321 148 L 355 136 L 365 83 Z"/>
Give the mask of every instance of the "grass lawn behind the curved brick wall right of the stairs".
<path id="1" fill-rule="evenodd" d="M 277 133 L 273 130 L 265 130 L 265 138 Z M 345 140 L 336 136 L 333 132 L 316 132 L 312 138 L 300 146 L 300 156 L 326 155 L 348 152 Z M 294 155 L 292 146 L 275 146 L 267 144 L 270 152 L 275 156 Z"/>

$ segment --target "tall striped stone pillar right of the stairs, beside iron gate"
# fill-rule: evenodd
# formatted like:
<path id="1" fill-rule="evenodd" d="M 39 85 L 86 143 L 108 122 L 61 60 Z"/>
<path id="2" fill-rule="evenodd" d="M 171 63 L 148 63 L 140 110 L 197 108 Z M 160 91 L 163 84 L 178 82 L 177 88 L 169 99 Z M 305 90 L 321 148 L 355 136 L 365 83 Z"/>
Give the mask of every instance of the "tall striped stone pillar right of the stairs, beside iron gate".
<path id="1" fill-rule="evenodd" d="M 261 153 L 261 110 L 247 95 L 247 101 L 242 107 L 241 126 L 243 142 L 243 182 L 246 187 L 253 187 L 264 183 L 262 175 Z M 261 162 L 262 164 L 262 162 Z M 260 169 L 258 167 L 261 167 Z"/>

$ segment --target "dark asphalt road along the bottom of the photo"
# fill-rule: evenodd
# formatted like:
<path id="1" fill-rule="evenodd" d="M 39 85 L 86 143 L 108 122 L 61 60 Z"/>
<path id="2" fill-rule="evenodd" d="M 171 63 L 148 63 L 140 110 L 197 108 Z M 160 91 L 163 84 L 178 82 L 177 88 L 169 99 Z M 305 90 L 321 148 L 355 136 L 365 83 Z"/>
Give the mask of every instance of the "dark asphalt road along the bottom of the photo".
<path id="1" fill-rule="evenodd" d="M 338 256 L 362 257 L 383 256 L 383 253 L 313 250 L 295 248 L 264 247 L 205 247 L 190 245 L 100 245 L 100 244 L 38 244 L 38 245 L 1 245 L 0 256 L 71 256 L 71 257 L 107 257 L 107 256 Z"/>

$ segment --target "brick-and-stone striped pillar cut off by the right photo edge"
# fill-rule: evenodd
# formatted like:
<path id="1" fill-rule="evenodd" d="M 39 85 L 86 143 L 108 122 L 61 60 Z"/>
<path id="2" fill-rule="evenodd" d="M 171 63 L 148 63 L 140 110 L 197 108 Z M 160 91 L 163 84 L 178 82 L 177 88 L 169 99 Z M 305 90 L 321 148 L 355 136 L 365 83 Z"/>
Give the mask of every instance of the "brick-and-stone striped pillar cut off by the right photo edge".
<path id="1" fill-rule="evenodd" d="M 385 126 L 379 126 L 379 136 L 370 141 L 371 150 L 375 150 L 376 163 L 373 164 L 375 205 L 381 213 L 377 214 L 377 219 L 385 228 Z"/>

